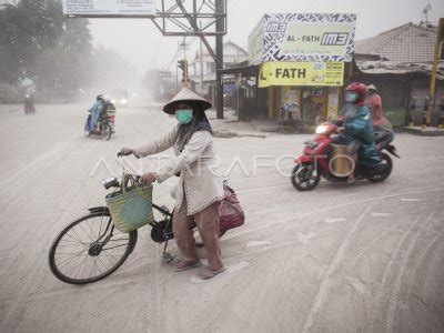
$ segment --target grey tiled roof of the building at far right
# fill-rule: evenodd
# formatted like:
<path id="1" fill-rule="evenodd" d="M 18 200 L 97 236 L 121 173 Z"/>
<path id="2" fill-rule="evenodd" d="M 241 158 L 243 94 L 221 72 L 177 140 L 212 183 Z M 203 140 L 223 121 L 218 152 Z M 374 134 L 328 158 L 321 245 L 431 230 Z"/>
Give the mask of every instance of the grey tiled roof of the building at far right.
<path id="1" fill-rule="evenodd" d="M 432 62 L 436 28 L 407 23 L 355 42 L 355 52 L 379 54 L 394 62 Z"/>

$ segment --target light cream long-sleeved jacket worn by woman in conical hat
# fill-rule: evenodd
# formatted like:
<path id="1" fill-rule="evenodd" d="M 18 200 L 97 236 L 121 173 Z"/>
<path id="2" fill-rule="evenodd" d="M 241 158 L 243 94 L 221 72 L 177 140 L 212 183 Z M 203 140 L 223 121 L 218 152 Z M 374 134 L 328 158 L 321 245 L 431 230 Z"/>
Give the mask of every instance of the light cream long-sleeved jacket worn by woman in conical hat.
<path id="1" fill-rule="evenodd" d="M 169 148 L 175 157 L 154 172 L 159 183 L 180 172 L 174 209 L 179 210 L 186 195 L 188 215 L 195 214 L 224 198 L 223 178 L 213 149 L 213 138 L 208 131 L 195 132 L 182 152 L 175 138 L 179 125 L 153 142 L 134 149 L 134 155 L 144 158 Z"/>

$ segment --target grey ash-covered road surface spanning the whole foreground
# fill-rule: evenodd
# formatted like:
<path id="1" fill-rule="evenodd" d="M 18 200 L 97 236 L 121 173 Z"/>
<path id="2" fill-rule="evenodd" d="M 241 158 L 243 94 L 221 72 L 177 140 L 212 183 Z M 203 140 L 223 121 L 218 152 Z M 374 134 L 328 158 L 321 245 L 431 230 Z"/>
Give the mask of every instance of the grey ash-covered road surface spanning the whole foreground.
<path id="1" fill-rule="evenodd" d="M 115 151 L 174 121 L 157 107 L 120 109 L 102 141 L 83 137 L 87 105 L 37 108 L 0 105 L 1 332 L 444 331 L 444 138 L 398 134 L 386 182 L 305 193 L 276 165 L 287 173 L 285 155 L 311 135 L 214 139 L 248 215 L 222 240 L 226 272 L 173 272 L 144 228 L 121 269 L 74 286 L 49 270 L 52 239 L 103 204 Z M 149 170 L 169 154 L 129 161 Z M 173 182 L 155 186 L 158 204 L 172 206 Z"/>

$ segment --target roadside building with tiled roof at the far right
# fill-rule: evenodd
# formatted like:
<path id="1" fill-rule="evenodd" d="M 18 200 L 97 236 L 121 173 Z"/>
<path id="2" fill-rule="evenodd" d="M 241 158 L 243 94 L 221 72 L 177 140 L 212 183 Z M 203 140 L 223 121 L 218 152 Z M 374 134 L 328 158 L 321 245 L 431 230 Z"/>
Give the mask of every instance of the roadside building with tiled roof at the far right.
<path id="1" fill-rule="evenodd" d="M 356 41 L 353 72 L 347 79 L 373 83 L 383 100 L 384 114 L 394 125 L 411 120 L 422 123 L 430 108 L 431 124 L 444 108 L 444 51 L 441 48 L 436 75 L 436 107 L 430 101 L 430 84 L 436 44 L 436 27 L 406 23 L 373 38 Z"/>

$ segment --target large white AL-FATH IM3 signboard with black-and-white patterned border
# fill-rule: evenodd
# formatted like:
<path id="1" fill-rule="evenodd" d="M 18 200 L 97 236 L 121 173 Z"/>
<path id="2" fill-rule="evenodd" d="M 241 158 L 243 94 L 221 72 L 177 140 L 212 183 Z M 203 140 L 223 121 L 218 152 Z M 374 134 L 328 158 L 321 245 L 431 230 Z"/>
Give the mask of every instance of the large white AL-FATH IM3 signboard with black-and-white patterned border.
<path id="1" fill-rule="evenodd" d="M 350 13 L 265 14 L 249 38 L 249 48 L 260 49 L 260 57 L 250 57 L 250 63 L 350 62 L 355 23 L 356 16 Z"/>

